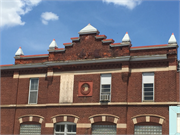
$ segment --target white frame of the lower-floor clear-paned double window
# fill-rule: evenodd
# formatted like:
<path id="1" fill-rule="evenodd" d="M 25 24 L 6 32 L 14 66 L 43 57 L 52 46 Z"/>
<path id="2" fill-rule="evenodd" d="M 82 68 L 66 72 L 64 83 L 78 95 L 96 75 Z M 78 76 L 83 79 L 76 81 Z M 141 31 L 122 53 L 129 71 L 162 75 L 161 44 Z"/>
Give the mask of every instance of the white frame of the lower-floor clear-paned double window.
<path id="1" fill-rule="evenodd" d="M 56 125 L 64 125 L 64 132 L 57 132 L 56 131 Z M 76 123 L 73 122 L 58 122 L 54 124 L 54 135 L 56 134 L 64 134 L 64 135 L 68 135 L 68 134 L 74 134 L 76 135 L 76 132 L 67 132 L 68 131 L 68 125 L 75 125 L 76 126 L 76 130 L 77 130 L 77 125 Z"/>

